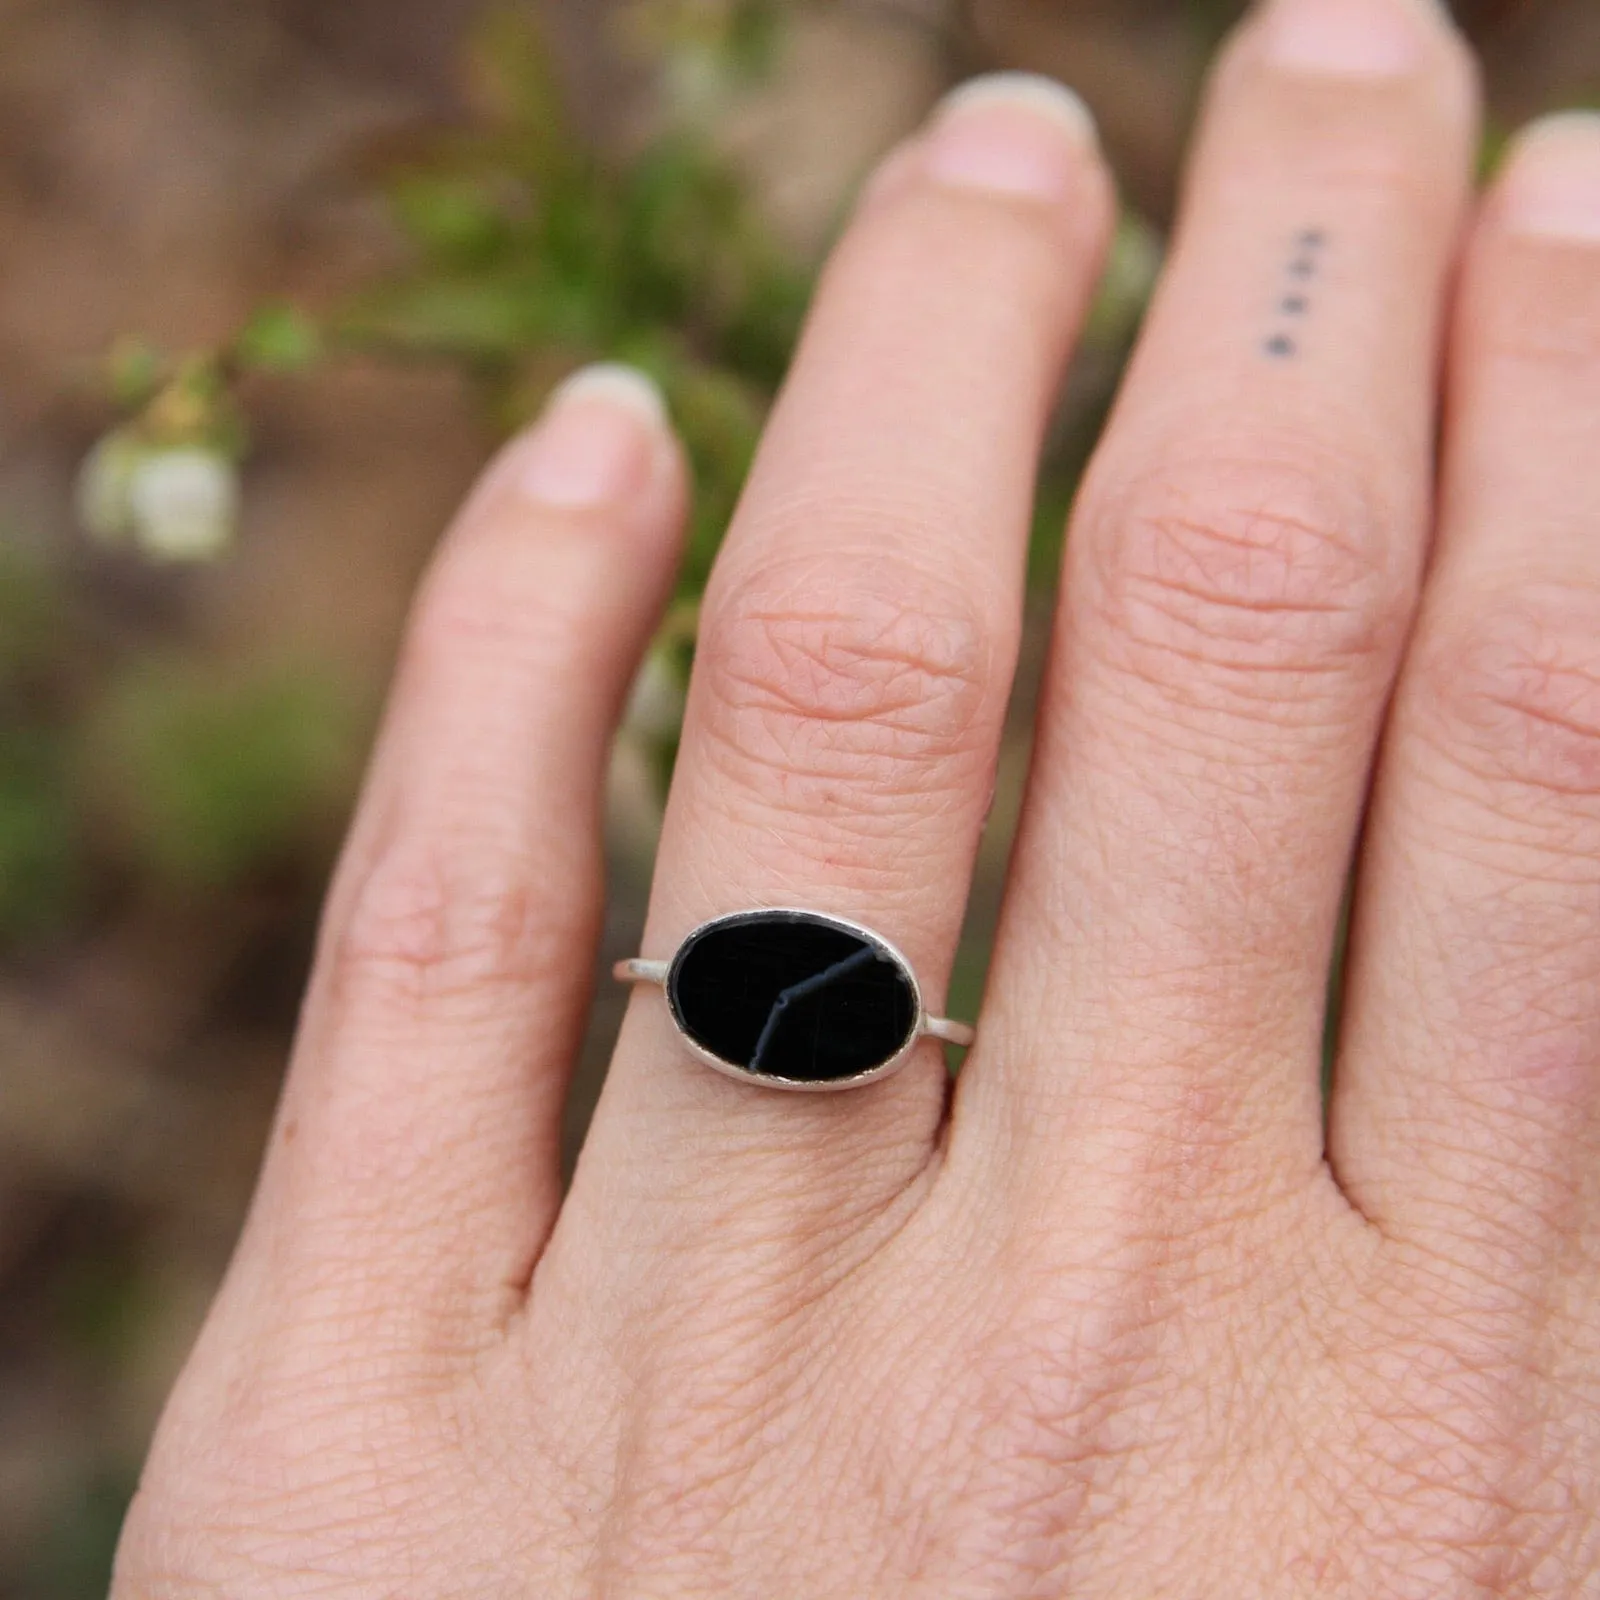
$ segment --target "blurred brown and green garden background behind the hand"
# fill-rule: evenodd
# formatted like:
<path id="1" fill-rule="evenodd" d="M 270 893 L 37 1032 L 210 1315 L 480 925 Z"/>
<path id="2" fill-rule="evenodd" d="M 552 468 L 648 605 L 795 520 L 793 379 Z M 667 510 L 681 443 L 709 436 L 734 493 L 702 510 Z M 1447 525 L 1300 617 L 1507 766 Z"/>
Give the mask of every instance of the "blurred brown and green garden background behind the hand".
<path id="1" fill-rule="evenodd" d="M 954 80 L 1054 74 L 1125 219 L 1051 437 L 955 1014 L 1062 512 L 1234 0 L 0 0 L 0 1597 L 104 1594 L 227 1259 L 421 565 L 597 355 L 694 459 L 610 795 L 637 939 L 696 595 L 854 186 Z M 1600 102 L 1594 0 L 1462 0 L 1485 163 Z M 619 1014 L 597 990 L 581 1138 Z"/>

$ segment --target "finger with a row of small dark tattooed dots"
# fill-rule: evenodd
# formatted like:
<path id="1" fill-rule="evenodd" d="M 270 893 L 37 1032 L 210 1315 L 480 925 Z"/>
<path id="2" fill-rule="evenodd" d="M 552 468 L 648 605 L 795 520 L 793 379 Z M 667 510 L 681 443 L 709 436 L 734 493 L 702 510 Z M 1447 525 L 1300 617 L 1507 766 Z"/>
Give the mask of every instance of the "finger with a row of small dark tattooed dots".
<path id="1" fill-rule="evenodd" d="M 1006 1050 L 957 1106 L 957 1144 L 1024 1150 L 1021 1184 L 1077 1181 L 1062 1128 L 1213 1197 L 1237 1184 L 1202 1171 L 1320 1171 L 1325 973 L 1472 146 L 1467 58 L 1421 0 L 1277 0 L 1219 67 L 1072 523 L 984 1010 Z"/>

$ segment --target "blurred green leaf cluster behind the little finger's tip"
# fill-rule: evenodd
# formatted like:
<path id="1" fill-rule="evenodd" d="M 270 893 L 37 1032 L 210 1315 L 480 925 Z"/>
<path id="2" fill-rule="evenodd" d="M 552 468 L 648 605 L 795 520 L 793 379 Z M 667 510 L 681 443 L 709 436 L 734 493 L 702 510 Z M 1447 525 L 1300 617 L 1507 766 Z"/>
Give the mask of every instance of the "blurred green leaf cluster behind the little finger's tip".
<path id="1" fill-rule="evenodd" d="M 630 13 L 664 59 L 691 48 L 731 75 L 766 62 L 773 18 L 750 5 Z M 584 362 L 650 371 L 694 469 L 683 592 L 698 594 L 794 347 L 810 266 L 776 245 L 693 117 L 667 115 L 632 157 L 597 149 L 525 10 L 483 16 L 467 82 L 472 125 L 381 178 L 410 267 L 338 309 L 330 339 L 458 363 L 504 430 Z"/>

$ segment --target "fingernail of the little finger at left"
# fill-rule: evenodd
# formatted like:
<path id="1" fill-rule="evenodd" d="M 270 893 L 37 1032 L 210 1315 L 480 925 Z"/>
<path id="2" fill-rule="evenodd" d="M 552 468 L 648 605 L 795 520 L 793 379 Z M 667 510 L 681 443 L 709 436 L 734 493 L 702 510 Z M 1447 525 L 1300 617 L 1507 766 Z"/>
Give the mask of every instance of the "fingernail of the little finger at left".
<path id="1" fill-rule="evenodd" d="M 528 438 L 520 488 L 571 510 L 626 499 L 648 482 L 666 426 L 661 390 L 642 371 L 618 362 L 584 366 L 550 395 Z"/>

